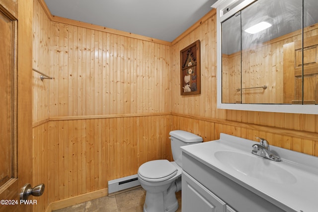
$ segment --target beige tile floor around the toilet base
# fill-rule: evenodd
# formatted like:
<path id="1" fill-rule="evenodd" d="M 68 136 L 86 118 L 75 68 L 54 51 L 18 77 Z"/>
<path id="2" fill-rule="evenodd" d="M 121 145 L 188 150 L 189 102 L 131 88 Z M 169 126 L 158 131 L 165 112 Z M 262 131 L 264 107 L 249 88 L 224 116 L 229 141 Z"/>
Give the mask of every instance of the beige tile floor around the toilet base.
<path id="1" fill-rule="evenodd" d="M 138 188 L 111 197 L 101 197 L 54 212 L 143 212 L 146 191 Z M 181 212 L 181 191 L 176 193 Z"/>

